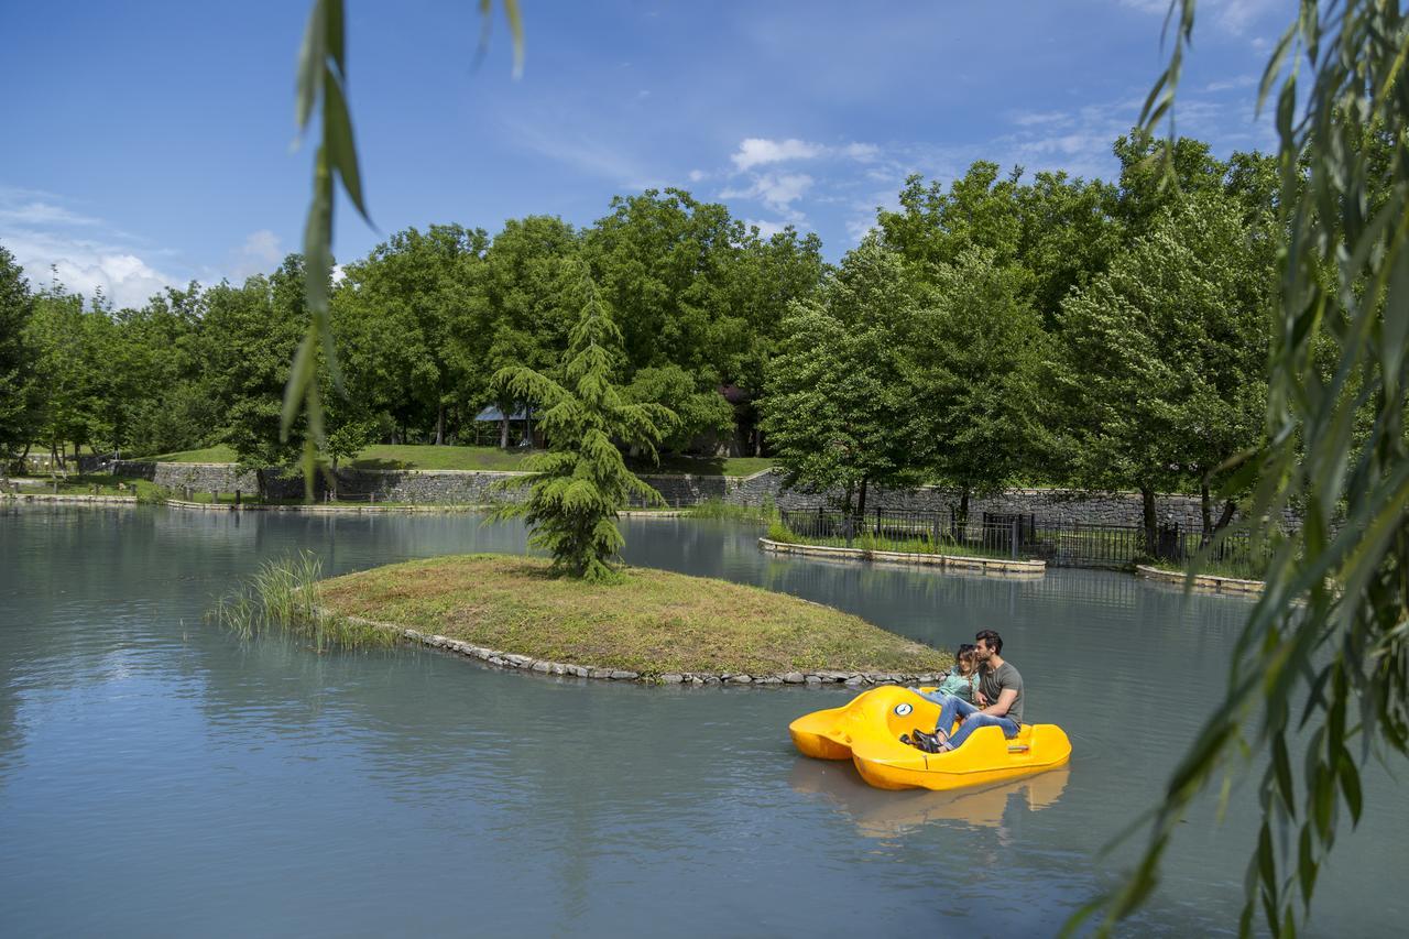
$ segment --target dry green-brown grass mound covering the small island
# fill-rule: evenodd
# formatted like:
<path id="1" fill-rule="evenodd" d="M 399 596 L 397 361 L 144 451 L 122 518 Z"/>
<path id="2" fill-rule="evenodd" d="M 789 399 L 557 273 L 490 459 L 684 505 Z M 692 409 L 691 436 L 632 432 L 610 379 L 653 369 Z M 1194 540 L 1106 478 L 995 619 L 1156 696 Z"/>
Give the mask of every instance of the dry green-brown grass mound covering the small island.
<path id="1" fill-rule="evenodd" d="M 621 582 L 552 577 L 503 554 L 440 557 L 321 581 L 335 615 L 395 623 L 504 653 L 637 671 L 747 673 L 948 668 L 948 653 L 859 616 L 702 577 L 630 568 Z"/>

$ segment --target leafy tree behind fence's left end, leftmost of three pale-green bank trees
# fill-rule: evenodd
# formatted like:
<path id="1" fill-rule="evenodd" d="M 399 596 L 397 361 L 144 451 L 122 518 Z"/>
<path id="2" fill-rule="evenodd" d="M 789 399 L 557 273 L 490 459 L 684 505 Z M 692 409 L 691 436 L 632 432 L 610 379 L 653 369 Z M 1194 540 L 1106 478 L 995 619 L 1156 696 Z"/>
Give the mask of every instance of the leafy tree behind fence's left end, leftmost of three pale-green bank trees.
<path id="1" fill-rule="evenodd" d="M 913 275 L 876 238 L 848 252 L 814 299 L 796 300 L 768 371 L 762 427 L 788 485 L 840 491 L 864 513 L 872 485 L 916 468 L 900 337 L 919 309 Z"/>

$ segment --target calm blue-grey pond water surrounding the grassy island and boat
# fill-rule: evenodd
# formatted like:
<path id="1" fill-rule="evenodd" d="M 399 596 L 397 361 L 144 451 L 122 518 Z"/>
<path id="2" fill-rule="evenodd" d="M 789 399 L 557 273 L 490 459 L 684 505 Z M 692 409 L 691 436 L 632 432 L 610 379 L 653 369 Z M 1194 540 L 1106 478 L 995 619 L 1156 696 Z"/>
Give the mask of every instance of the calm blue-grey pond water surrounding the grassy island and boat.
<path id="1" fill-rule="evenodd" d="M 757 532 L 626 524 L 635 564 L 758 584 L 952 647 L 995 626 L 1071 767 L 882 792 L 797 757 L 847 692 L 640 688 L 400 649 L 241 646 L 210 599 L 262 558 L 330 572 L 521 551 L 472 516 L 0 509 L 0 935 L 1050 935 L 1217 699 L 1247 602 L 1119 574 L 999 581 L 776 560 Z M 1226 932 L 1255 798 L 1184 826 L 1130 933 Z M 1409 809 L 1379 770 L 1312 932 L 1402 935 Z"/>

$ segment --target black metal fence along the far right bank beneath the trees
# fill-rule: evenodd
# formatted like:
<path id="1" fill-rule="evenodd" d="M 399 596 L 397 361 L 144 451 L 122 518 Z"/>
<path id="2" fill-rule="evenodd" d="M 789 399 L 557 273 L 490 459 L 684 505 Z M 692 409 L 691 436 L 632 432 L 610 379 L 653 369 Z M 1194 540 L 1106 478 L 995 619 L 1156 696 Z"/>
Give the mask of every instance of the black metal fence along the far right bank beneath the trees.
<path id="1" fill-rule="evenodd" d="M 1124 568 L 1137 563 L 1185 565 L 1206 540 L 1199 526 L 1164 523 L 1151 540 L 1138 524 L 1084 524 L 1040 520 L 1033 515 L 983 513 L 961 522 L 954 512 L 868 509 L 845 515 L 837 509 L 783 510 L 782 524 L 810 544 L 875 551 L 967 554 L 996 558 L 1040 558 L 1053 567 Z M 1216 541 L 1205 567 L 1226 577 L 1257 578 L 1268 548 L 1254 548 L 1246 534 Z"/>

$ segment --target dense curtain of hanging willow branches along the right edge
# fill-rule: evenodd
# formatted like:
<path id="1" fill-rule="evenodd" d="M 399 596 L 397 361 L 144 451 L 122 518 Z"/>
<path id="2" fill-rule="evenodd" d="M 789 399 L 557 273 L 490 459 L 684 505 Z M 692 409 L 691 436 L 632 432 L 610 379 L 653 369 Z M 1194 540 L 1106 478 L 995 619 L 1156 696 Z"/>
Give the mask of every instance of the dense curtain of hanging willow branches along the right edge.
<path id="1" fill-rule="evenodd" d="M 1167 23 L 1178 28 L 1141 116 L 1147 128 L 1172 127 L 1195 7 L 1171 3 Z M 1302 0 L 1267 63 L 1260 106 L 1275 94 L 1282 266 L 1267 443 L 1247 457 L 1257 474 L 1241 527 L 1261 537 L 1264 520 L 1288 508 L 1303 524 L 1275 553 L 1227 694 L 1154 812 L 1144 856 L 1068 931 L 1105 909 L 1109 932 L 1146 901 L 1192 801 L 1220 774 L 1246 771 L 1251 753 L 1270 759 L 1240 931 L 1260 911 L 1274 936 L 1292 933 L 1336 840 L 1340 805 L 1351 825 L 1361 818 L 1361 767 L 1409 756 L 1406 62 L 1409 27 L 1396 0 Z M 1299 774 L 1289 736 L 1308 740 Z"/>

